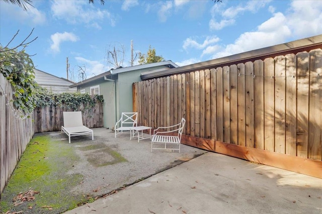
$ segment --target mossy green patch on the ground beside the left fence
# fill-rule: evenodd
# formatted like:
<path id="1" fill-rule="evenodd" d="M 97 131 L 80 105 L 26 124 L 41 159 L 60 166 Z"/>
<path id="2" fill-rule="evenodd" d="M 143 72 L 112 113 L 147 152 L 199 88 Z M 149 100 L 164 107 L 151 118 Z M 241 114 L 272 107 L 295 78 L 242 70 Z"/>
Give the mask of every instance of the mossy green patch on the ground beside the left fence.
<path id="1" fill-rule="evenodd" d="M 71 195 L 70 190 L 83 180 L 81 174 L 66 172 L 79 157 L 73 147 L 50 135 L 36 134 L 28 144 L 0 200 L 0 212 L 59 213 L 77 206 L 84 196 Z M 35 199 L 13 205 L 13 198 L 28 190 L 39 191 Z M 28 206 L 31 206 L 30 209 Z M 45 207 L 42 207 L 45 206 Z"/>

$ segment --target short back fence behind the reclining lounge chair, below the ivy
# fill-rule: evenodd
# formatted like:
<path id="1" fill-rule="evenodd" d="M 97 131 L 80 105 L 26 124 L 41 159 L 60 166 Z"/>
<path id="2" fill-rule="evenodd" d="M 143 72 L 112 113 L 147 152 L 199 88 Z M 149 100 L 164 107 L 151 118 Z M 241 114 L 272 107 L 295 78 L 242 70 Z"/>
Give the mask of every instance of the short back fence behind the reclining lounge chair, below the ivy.
<path id="1" fill-rule="evenodd" d="M 60 131 L 63 125 L 63 112 L 72 111 L 65 107 L 44 106 L 34 110 L 34 129 L 37 132 Z M 89 128 L 103 127 L 103 104 L 93 108 L 79 106 L 76 111 L 83 112 L 83 124 Z"/>

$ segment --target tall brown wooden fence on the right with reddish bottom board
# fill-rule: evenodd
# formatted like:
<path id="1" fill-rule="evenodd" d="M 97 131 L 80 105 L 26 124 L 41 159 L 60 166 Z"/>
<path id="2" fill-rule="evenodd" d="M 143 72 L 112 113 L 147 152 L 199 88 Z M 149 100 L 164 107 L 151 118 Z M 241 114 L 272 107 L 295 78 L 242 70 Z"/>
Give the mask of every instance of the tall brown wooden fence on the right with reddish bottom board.
<path id="1" fill-rule="evenodd" d="M 137 82 L 133 108 L 153 128 L 186 118 L 185 144 L 322 178 L 321 49 Z"/>

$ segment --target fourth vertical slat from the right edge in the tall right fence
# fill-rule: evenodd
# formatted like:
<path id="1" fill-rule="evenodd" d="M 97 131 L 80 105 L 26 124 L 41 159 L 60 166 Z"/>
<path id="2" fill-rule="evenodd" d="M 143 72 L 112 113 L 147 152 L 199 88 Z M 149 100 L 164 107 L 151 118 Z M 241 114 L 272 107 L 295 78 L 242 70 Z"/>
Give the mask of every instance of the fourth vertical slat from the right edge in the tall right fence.
<path id="1" fill-rule="evenodd" d="M 275 60 L 275 152 L 285 154 L 285 87 L 286 59 L 278 56 Z"/>

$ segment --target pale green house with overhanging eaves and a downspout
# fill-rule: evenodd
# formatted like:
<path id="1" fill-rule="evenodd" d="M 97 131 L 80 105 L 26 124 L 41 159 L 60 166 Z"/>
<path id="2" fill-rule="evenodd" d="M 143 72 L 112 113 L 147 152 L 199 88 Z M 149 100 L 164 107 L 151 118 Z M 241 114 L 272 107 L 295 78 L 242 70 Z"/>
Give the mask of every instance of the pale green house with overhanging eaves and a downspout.
<path id="1" fill-rule="evenodd" d="M 111 69 L 103 74 L 78 82 L 81 93 L 99 94 L 104 97 L 104 127 L 113 129 L 122 112 L 132 112 L 132 84 L 141 81 L 141 73 L 166 71 L 179 67 L 172 61 Z"/>

